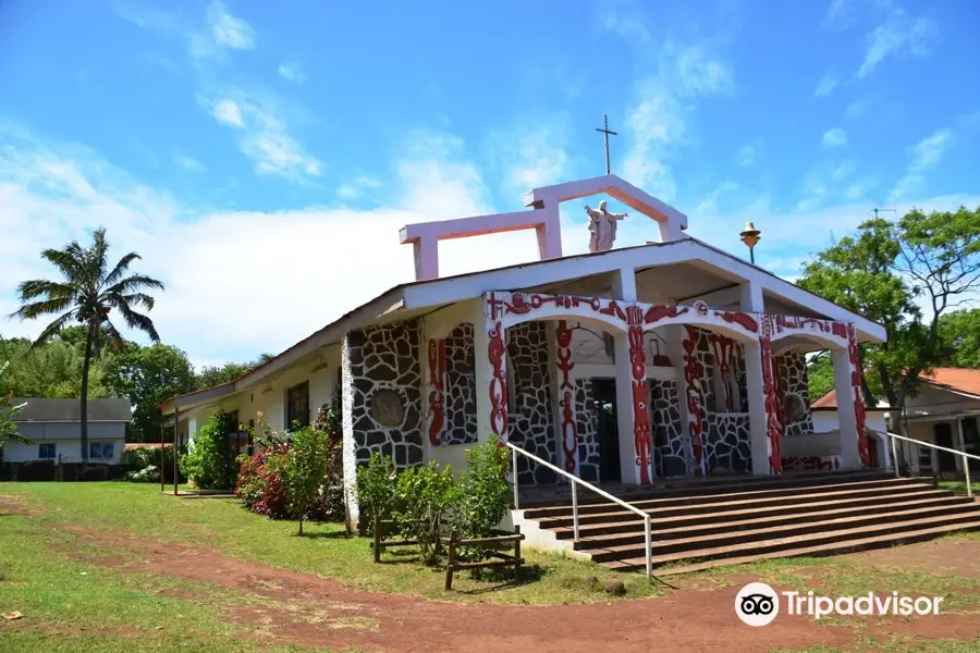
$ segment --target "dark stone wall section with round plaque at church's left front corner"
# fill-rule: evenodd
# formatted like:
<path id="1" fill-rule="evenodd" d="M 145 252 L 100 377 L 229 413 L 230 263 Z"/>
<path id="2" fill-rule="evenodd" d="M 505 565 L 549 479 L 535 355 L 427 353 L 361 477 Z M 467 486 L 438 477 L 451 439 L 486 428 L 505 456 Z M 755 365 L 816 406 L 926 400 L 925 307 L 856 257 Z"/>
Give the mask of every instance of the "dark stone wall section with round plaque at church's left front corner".
<path id="1" fill-rule="evenodd" d="M 355 461 L 381 452 L 399 468 L 421 464 L 418 321 L 348 332 L 342 365 L 345 447 Z"/>

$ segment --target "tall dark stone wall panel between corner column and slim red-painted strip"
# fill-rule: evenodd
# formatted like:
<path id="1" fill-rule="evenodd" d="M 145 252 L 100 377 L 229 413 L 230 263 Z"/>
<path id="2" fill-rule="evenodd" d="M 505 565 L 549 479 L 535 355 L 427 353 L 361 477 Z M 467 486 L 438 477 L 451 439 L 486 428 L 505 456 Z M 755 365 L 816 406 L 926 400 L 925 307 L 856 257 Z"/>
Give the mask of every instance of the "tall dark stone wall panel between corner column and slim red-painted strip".
<path id="1" fill-rule="evenodd" d="M 546 322 L 524 322 L 507 329 L 507 439 L 539 458 L 558 465 Z M 518 456 L 520 483 L 551 484 L 556 481 L 553 471 L 530 463 L 528 458 Z"/>

